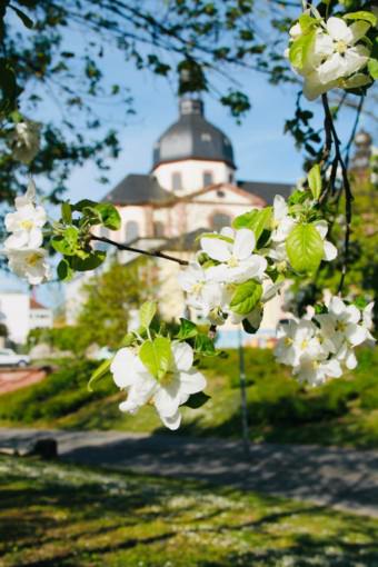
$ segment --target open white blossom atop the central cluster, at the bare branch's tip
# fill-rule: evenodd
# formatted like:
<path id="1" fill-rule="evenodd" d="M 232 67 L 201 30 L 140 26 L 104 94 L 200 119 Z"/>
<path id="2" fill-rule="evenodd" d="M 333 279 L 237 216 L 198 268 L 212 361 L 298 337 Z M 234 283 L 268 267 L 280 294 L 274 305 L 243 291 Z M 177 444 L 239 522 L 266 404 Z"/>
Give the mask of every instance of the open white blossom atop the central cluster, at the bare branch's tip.
<path id="1" fill-rule="evenodd" d="M 253 255 L 256 238 L 252 230 L 241 228 L 233 231 L 228 229 L 220 235 L 203 236 L 202 250 L 217 266 L 207 269 L 208 278 L 213 281 L 240 284 L 247 279 L 262 279 L 267 269 L 267 260 L 260 255 Z"/>

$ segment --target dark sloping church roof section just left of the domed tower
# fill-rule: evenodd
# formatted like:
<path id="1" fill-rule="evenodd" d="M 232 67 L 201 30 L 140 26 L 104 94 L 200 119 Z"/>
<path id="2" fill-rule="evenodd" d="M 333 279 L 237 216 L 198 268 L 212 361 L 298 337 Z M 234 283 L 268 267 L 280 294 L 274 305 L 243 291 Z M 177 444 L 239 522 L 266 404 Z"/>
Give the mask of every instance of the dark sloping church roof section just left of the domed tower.
<path id="1" fill-rule="evenodd" d="M 166 191 L 156 177 L 139 173 L 127 176 L 105 197 L 106 201 L 115 205 L 166 202 L 171 199 L 172 193 Z"/>

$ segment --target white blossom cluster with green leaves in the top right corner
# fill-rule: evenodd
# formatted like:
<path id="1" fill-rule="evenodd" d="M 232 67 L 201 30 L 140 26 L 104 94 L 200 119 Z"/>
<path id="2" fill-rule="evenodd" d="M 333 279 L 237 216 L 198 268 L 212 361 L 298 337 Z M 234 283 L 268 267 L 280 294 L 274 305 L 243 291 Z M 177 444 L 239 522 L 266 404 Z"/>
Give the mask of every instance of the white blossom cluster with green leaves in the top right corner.
<path id="1" fill-rule="evenodd" d="M 357 19 L 358 13 L 361 19 Z M 366 13 L 370 21 L 364 19 Z M 316 16 L 305 12 L 299 18 L 290 29 L 286 51 L 292 69 L 304 77 L 305 96 L 314 100 L 334 88 L 371 84 L 374 73 L 365 72 L 371 56 L 371 41 L 366 34 L 372 27 L 374 14 L 346 14 L 354 20 L 350 26 L 340 17 L 325 21 Z"/>

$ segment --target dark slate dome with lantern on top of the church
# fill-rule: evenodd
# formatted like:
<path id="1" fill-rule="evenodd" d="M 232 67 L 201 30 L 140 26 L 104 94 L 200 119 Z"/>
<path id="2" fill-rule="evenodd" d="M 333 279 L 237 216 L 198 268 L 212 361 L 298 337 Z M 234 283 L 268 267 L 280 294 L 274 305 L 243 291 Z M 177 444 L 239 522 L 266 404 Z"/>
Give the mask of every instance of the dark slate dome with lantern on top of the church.
<path id="1" fill-rule="evenodd" d="M 180 118 L 153 147 L 153 169 L 160 163 L 183 159 L 225 161 L 232 168 L 233 150 L 227 136 L 203 117 L 198 99 L 180 100 Z"/>

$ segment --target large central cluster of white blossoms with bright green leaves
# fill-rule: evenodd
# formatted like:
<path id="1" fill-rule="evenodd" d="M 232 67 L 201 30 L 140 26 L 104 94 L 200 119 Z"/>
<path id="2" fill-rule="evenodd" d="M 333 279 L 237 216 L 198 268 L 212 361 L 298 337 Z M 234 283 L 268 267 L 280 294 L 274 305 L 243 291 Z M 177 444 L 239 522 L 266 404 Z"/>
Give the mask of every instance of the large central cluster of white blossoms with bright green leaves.
<path id="1" fill-rule="evenodd" d="M 277 195 L 272 207 L 236 219 L 237 227 L 225 227 L 220 232 L 202 235 L 195 261 L 178 277 L 188 307 L 213 325 L 227 319 L 232 324 L 242 321 L 246 330 L 256 331 L 265 304 L 280 291 L 284 275 L 296 268 L 295 255 L 289 259 L 287 240 L 301 227 L 304 216 L 312 215 L 314 206 L 310 195 L 302 195 L 304 203 L 292 207 Z M 311 227 L 318 235 L 319 261 L 334 260 L 337 249 L 326 240 L 327 221 L 316 219 Z"/>

